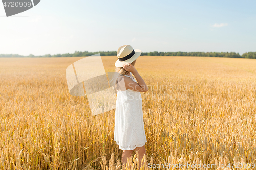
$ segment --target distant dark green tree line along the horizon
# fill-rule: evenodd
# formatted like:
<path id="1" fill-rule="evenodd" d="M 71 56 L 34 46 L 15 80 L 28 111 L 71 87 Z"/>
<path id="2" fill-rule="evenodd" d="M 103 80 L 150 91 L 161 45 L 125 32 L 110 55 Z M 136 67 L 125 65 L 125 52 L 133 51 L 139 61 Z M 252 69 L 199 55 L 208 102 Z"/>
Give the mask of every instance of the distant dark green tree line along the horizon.
<path id="1" fill-rule="evenodd" d="M 99 52 L 88 52 L 88 51 L 75 51 L 75 53 L 65 54 L 46 54 L 43 56 L 34 56 L 30 54 L 28 56 L 22 56 L 18 54 L 0 54 L 0 57 L 83 57 L 91 56 L 100 53 L 101 56 L 116 56 L 116 51 L 99 51 Z M 235 52 L 142 52 L 141 56 L 199 56 L 199 57 L 230 57 L 230 58 L 256 58 L 256 52 L 246 52 L 242 55 Z"/>

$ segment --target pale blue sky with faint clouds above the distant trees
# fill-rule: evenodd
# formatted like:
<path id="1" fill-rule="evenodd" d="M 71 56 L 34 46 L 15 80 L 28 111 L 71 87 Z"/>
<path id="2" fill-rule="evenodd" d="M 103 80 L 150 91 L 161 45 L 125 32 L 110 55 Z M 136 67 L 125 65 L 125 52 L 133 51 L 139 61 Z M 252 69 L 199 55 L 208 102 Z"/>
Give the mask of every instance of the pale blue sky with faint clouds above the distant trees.
<path id="1" fill-rule="evenodd" d="M 5 17 L 0 54 L 256 51 L 256 1 L 60 1 Z"/>

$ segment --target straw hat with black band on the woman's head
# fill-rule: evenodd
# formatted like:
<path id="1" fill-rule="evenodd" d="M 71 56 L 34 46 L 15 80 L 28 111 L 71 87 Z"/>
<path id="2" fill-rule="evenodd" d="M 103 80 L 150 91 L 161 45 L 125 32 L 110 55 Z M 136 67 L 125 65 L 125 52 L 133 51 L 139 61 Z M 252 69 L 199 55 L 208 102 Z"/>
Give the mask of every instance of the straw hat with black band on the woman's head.
<path id="1" fill-rule="evenodd" d="M 117 52 L 118 60 L 115 63 L 116 67 L 123 67 L 124 63 L 132 63 L 141 55 L 141 50 L 133 49 L 131 45 L 123 45 L 118 48 Z"/>

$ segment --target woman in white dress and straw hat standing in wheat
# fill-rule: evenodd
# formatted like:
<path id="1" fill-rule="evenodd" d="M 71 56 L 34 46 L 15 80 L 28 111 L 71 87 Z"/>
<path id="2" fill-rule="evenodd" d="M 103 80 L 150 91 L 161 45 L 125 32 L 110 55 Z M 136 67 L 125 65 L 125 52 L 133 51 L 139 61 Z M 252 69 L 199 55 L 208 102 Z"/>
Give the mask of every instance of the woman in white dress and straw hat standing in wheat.
<path id="1" fill-rule="evenodd" d="M 127 163 L 127 157 L 130 157 L 133 151 L 138 150 L 139 167 L 141 159 L 146 154 L 145 143 L 147 141 L 140 92 L 146 92 L 148 88 L 134 67 L 140 54 L 140 50 L 133 50 L 130 45 L 121 46 L 117 51 L 118 60 L 115 63 L 116 72 L 120 76 L 115 85 L 117 101 L 114 140 L 119 145 L 119 149 L 123 150 L 122 164 L 124 166 Z"/>

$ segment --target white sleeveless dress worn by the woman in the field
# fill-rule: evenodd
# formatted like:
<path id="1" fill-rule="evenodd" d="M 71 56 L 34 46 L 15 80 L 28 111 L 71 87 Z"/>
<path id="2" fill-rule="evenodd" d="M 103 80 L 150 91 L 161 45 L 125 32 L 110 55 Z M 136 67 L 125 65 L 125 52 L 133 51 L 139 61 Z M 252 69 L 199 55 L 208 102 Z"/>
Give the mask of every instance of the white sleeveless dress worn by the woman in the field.
<path id="1" fill-rule="evenodd" d="M 114 140 L 121 150 L 133 150 L 147 142 L 139 91 L 117 91 Z"/>

